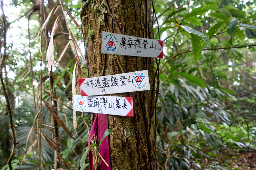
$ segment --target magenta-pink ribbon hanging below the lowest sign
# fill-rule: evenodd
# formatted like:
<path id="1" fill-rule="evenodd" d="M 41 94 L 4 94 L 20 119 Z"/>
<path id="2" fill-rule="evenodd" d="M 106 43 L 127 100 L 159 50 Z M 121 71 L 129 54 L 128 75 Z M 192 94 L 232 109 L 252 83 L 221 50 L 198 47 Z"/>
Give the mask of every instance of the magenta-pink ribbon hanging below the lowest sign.
<path id="1" fill-rule="evenodd" d="M 99 141 L 103 137 L 104 132 L 108 128 L 107 115 L 97 113 L 92 123 L 91 132 L 89 135 L 88 148 L 90 147 L 91 140 L 96 132 L 97 126 L 99 127 Z M 110 167 L 110 157 L 109 157 L 109 136 L 105 137 L 100 145 L 100 155 L 106 161 L 109 166 L 107 166 L 102 159 L 100 159 L 101 170 L 111 170 Z M 92 150 L 89 151 L 89 166 L 90 170 L 93 169 L 93 157 Z"/>

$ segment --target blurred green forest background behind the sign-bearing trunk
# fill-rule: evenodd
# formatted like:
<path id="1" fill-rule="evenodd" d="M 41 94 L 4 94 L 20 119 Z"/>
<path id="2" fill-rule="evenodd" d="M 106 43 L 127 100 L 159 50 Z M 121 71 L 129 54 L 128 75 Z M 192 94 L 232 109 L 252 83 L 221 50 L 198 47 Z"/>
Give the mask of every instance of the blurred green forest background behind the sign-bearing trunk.
<path id="1" fill-rule="evenodd" d="M 76 113 L 75 132 L 71 86 L 78 69 L 75 58 L 87 74 L 80 12 L 89 2 L 39 1 L 44 2 L 45 18 L 38 12 L 37 2 L 1 4 L 7 35 L 5 48 L 5 21 L 1 17 L 0 49 L 2 58 L 6 49 L 6 59 L 0 68 L 16 138 L 11 166 L 88 169 L 88 158 L 82 155 L 88 145 L 90 116 Z M 159 68 L 155 85 L 156 90 L 159 87 L 159 169 L 256 169 L 255 5 L 255 0 L 154 1 L 154 36 L 164 40 L 164 59 L 155 64 L 155 70 Z M 95 1 L 91 8 L 98 12 L 99 6 L 104 9 L 102 14 L 110 15 L 105 1 Z M 47 16 L 49 22 L 43 24 Z M 103 18 L 98 22 L 102 25 Z M 52 63 L 45 57 L 50 46 L 42 41 L 44 33 L 54 47 Z M 94 32 L 86 36 L 92 39 Z M 38 108 L 42 114 L 35 112 Z M 53 117 L 56 121 L 51 121 Z M 0 127 L 0 168 L 5 170 L 9 169 L 7 160 L 14 140 L 2 86 Z"/>

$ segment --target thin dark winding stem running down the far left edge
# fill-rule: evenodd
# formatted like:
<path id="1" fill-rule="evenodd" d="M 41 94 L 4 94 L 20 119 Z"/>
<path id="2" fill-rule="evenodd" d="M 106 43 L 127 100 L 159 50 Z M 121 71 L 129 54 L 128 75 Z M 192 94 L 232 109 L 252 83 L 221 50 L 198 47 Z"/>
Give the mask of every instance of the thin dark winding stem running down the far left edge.
<path id="1" fill-rule="evenodd" d="M 9 117 L 9 126 L 11 128 L 11 134 L 12 134 L 12 150 L 11 154 L 9 156 L 9 159 L 7 161 L 9 170 L 12 170 L 11 166 L 11 160 L 14 157 L 15 154 L 15 146 L 16 146 L 16 137 L 15 137 L 15 130 L 14 130 L 14 124 L 12 123 L 12 108 L 10 106 L 9 98 L 5 89 L 4 85 L 4 79 L 2 77 L 2 67 L 5 65 L 5 58 L 6 58 L 6 31 L 7 31 L 7 22 L 6 22 L 6 16 L 4 14 L 4 2 L 1 0 L 1 10 L 2 10 L 2 21 L 3 21 L 3 37 L 4 37 L 4 53 L 2 54 L 1 62 L 0 62 L 0 79 L 1 79 L 1 84 L 2 84 L 2 89 L 4 91 L 4 96 L 6 100 L 6 108 L 7 108 L 7 113 Z M 5 75 L 7 78 L 7 74 Z"/>

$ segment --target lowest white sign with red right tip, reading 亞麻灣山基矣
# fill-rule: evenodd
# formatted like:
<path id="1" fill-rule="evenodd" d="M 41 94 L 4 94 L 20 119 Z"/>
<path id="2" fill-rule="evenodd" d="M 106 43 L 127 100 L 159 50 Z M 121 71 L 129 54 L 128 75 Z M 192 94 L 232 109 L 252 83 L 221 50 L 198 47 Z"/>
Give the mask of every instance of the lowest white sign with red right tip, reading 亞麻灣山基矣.
<path id="1" fill-rule="evenodd" d="M 74 95 L 74 109 L 80 112 L 133 116 L 132 97 Z"/>

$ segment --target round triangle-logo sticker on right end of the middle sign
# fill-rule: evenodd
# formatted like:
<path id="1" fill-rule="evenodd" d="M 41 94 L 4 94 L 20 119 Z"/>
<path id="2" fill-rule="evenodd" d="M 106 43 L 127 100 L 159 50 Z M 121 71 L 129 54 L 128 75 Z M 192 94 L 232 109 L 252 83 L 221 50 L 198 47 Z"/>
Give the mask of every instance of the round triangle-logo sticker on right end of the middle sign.
<path id="1" fill-rule="evenodd" d="M 146 89 L 149 85 L 149 77 L 143 71 L 135 71 L 131 74 L 132 81 L 130 81 L 131 86 L 135 90 Z"/>

